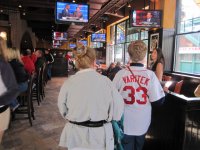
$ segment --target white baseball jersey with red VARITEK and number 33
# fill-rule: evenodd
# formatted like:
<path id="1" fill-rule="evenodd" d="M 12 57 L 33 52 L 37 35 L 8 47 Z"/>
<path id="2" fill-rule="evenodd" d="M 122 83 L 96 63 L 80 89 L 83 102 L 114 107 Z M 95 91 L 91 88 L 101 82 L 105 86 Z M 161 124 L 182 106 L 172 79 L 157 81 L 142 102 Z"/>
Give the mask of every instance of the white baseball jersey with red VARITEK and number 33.
<path id="1" fill-rule="evenodd" d="M 139 136 L 149 128 L 151 102 L 161 99 L 165 94 L 153 71 L 142 66 L 131 66 L 130 69 L 135 77 L 128 69 L 123 69 L 116 74 L 113 82 L 125 103 L 124 133 Z"/>

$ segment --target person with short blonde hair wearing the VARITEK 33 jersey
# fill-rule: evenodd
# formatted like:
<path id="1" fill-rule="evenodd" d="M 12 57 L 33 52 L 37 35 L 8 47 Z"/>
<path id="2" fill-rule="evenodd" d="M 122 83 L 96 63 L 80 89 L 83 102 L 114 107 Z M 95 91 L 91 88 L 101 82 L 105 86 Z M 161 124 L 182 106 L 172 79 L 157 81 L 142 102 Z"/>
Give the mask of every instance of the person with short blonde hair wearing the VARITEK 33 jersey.
<path id="1" fill-rule="evenodd" d="M 142 150 L 151 122 L 151 103 L 164 100 L 164 92 L 155 73 L 144 67 L 146 45 L 132 42 L 128 53 L 132 63 L 120 70 L 113 82 L 124 98 L 124 150 Z"/>

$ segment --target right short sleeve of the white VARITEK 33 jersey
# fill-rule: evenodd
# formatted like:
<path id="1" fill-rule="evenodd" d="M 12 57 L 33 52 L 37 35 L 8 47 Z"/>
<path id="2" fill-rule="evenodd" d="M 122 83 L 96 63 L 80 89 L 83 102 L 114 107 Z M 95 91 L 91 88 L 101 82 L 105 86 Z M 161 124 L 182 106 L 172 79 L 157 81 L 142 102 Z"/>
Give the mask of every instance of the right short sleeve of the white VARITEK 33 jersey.
<path id="1" fill-rule="evenodd" d="M 150 102 L 155 102 L 165 96 L 163 88 L 161 87 L 161 84 L 154 72 L 152 72 L 150 78 L 150 83 L 148 87 L 148 96 Z"/>

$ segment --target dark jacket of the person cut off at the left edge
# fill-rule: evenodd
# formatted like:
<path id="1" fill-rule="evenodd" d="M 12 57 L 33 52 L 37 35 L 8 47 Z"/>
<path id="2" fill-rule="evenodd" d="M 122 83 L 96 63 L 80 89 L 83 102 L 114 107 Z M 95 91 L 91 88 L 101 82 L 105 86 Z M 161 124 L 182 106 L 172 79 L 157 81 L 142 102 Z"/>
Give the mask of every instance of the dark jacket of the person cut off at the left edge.
<path id="1" fill-rule="evenodd" d="M 0 106 L 8 105 L 19 94 L 18 84 L 15 75 L 9 63 L 0 58 L 0 87 L 5 86 L 5 92 L 0 94 Z"/>

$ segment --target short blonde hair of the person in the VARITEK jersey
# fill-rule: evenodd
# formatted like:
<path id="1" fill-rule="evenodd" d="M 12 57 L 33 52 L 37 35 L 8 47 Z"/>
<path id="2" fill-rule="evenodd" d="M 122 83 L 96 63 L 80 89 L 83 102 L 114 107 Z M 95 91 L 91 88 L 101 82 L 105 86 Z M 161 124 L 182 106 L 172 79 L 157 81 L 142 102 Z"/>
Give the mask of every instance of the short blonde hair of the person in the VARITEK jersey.
<path id="1" fill-rule="evenodd" d="M 128 46 L 128 53 L 132 62 L 142 61 L 147 53 L 146 44 L 142 40 L 133 41 Z"/>

